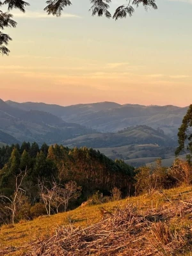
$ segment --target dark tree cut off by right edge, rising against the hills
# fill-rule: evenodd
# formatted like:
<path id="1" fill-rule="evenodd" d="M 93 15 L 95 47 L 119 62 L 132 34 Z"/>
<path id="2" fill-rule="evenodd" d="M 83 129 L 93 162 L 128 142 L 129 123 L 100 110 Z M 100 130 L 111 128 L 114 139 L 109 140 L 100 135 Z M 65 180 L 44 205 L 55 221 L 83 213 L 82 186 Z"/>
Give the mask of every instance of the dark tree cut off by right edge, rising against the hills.
<path id="1" fill-rule="evenodd" d="M 180 152 L 185 152 L 187 154 L 188 161 L 191 161 L 192 154 L 192 131 L 190 131 L 192 127 L 192 104 L 189 106 L 186 115 L 182 120 L 182 124 L 180 125 L 178 136 L 179 146 L 175 151 L 175 155 L 178 156 Z"/>

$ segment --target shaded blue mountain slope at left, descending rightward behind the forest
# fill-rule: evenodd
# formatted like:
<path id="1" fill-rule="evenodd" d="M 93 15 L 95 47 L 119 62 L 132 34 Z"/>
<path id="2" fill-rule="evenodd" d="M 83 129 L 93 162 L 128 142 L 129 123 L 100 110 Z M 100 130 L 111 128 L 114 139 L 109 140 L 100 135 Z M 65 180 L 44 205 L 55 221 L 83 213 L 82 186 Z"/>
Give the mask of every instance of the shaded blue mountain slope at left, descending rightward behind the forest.
<path id="1" fill-rule="evenodd" d="M 0 101 L 0 131 L 12 136 L 8 138 L 4 133 L 1 142 L 17 143 L 36 141 L 49 144 L 61 143 L 63 140 L 75 138 L 84 134 L 93 133 L 79 124 L 67 123 L 60 117 L 44 111 L 16 108 L 7 102 Z M 15 142 L 13 141 L 13 138 Z"/>

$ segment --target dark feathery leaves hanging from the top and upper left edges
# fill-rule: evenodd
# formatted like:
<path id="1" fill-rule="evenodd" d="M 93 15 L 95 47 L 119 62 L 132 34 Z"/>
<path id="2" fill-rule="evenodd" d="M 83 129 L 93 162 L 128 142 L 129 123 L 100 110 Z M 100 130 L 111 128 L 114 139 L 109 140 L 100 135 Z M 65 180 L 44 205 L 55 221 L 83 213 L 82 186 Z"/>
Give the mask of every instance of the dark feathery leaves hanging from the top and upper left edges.
<path id="1" fill-rule="evenodd" d="M 107 18 L 112 17 L 109 12 L 111 0 L 90 0 L 90 2 L 92 4 L 90 11 L 93 16 L 98 15 L 100 17 L 104 15 Z M 0 29 L 2 31 L 4 28 L 15 28 L 17 26 L 17 22 L 12 19 L 13 15 L 9 13 L 10 10 L 15 8 L 21 12 L 25 12 L 26 6 L 29 6 L 29 3 L 23 0 L 0 0 L 0 7 L 4 4 L 8 7 L 8 12 L 2 12 L 0 10 Z M 70 6 L 72 2 L 70 0 L 47 0 L 46 4 L 47 6 L 45 6 L 44 11 L 48 15 L 60 17 L 63 8 Z M 145 10 L 148 10 L 148 8 L 157 9 L 156 0 L 129 0 L 126 4 L 122 4 L 116 8 L 115 13 L 113 13 L 113 19 L 122 19 L 127 17 L 127 15 L 131 17 L 134 13 L 134 6 L 138 7 L 140 4 L 143 4 Z M 2 31 L 0 31 L 0 53 L 8 55 L 10 51 L 6 46 L 12 38 Z"/>

